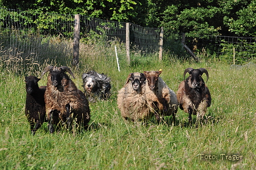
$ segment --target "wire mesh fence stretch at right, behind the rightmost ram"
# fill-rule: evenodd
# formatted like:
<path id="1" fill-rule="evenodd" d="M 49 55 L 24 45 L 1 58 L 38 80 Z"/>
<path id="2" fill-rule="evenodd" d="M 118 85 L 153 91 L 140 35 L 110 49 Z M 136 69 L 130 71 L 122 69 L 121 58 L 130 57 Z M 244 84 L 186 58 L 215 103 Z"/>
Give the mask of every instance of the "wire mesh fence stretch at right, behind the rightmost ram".
<path id="1" fill-rule="evenodd" d="M 186 44 L 198 54 L 217 56 L 230 64 L 242 64 L 256 58 L 255 37 L 219 35 L 207 39 L 187 38 Z"/>

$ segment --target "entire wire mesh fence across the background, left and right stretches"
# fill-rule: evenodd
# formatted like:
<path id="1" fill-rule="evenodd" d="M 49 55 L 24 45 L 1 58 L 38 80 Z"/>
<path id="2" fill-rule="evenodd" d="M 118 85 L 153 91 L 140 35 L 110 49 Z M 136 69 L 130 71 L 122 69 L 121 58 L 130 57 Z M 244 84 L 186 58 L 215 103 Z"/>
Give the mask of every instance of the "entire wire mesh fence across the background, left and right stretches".
<path id="1" fill-rule="evenodd" d="M 85 43 L 82 46 L 95 42 L 110 46 L 110 42 L 114 41 L 121 44 L 119 50 L 125 51 L 125 22 L 105 21 L 81 15 L 80 24 L 81 42 Z M 131 51 L 140 54 L 159 51 L 161 28 L 147 28 L 130 23 L 129 29 Z M 2 54 L 35 60 L 72 59 L 73 14 L 36 14 L 31 11 L 0 8 L 0 31 Z M 256 55 L 256 38 L 250 37 L 186 38 L 186 44 L 197 55 L 215 56 L 230 63 L 233 63 L 234 55 L 236 63 L 247 62 Z M 105 48 L 102 51 L 104 50 Z M 81 54 L 86 55 L 83 52 Z M 113 60 L 115 58 L 114 55 L 109 57 L 113 57 Z"/>

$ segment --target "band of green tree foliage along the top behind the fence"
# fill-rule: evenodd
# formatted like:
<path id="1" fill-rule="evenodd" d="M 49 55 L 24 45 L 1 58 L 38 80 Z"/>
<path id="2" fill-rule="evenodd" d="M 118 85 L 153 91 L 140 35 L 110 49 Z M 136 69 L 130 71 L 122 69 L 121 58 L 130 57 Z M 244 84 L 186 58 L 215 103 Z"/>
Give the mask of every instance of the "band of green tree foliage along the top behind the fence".
<path id="1" fill-rule="evenodd" d="M 167 37 L 186 33 L 191 38 L 208 35 L 255 36 L 255 0 L 251 1 L 163 1 L 163 0 L 60 0 L 1 1 L 9 9 L 31 11 L 31 14 L 81 14 L 118 22 L 131 22 L 143 27 L 164 26 Z M 39 19 L 40 29 L 54 29 Z M 56 18 L 57 19 L 57 18 Z M 46 25 L 45 25 L 46 23 Z"/>

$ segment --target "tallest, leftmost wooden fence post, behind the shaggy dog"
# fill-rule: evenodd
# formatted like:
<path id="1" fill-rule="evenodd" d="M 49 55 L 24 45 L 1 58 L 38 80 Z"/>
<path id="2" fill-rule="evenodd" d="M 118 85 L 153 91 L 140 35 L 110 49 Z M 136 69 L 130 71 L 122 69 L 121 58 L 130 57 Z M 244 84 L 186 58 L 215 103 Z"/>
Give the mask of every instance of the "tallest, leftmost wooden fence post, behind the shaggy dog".
<path id="1" fill-rule="evenodd" d="M 80 15 L 75 14 L 74 22 L 74 46 L 73 46 L 73 65 L 79 64 L 79 41 L 80 41 Z"/>

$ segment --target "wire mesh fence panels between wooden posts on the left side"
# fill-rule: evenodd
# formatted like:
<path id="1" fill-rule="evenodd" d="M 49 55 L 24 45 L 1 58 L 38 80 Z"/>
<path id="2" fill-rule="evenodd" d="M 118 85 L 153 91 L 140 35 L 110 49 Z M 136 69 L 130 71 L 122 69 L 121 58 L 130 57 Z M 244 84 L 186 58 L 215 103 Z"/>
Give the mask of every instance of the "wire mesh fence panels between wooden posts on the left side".
<path id="1" fill-rule="evenodd" d="M 105 21 L 81 15 L 80 25 L 82 43 L 95 44 L 101 41 L 102 44 L 109 45 L 110 41 L 115 41 L 122 44 L 119 46 L 121 50 L 125 50 L 125 22 Z M 35 60 L 72 59 L 73 14 L 37 14 L 0 8 L 0 31 L 2 51 L 9 52 L 10 55 Z M 159 32 L 160 28 L 145 28 L 130 23 L 131 50 L 143 54 L 157 52 Z"/>

